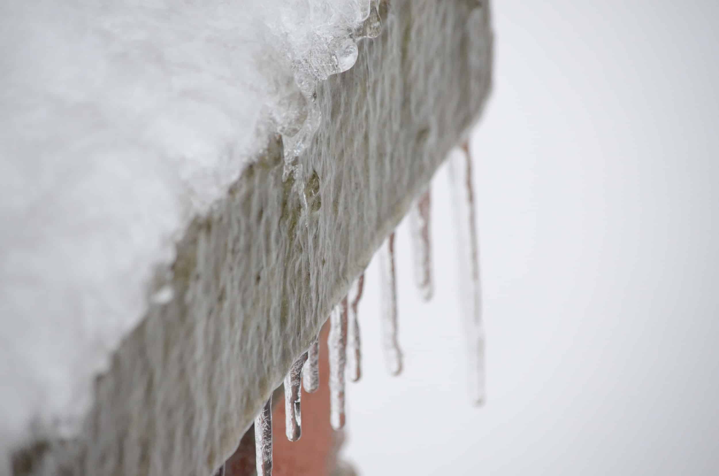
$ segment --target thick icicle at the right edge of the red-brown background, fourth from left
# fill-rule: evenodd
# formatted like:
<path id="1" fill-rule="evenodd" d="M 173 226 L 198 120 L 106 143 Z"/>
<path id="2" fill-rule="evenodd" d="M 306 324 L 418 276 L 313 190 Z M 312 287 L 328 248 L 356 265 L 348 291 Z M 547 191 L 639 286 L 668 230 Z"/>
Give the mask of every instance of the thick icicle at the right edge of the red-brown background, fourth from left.
<path id="1" fill-rule="evenodd" d="M 347 363 L 347 297 L 329 317 L 329 421 L 332 428 L 344 426 L 344 366 Z"/>

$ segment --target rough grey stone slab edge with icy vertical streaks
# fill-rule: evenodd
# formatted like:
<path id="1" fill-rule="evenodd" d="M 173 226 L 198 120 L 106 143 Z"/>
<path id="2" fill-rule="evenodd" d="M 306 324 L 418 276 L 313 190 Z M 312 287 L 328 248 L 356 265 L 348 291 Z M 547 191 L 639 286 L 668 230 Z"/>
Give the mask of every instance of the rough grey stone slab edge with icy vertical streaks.
<path id="1" fill-rule="evenodd" d="M 16 455 L 16 475 L 211 475 L 234 452 L 489 91 L 484 1 L 393 0 L 382 15 L 317 90 L 302 185 L 283 182 L 276 139 L 178 243 L 175 297 L 124 339 L 81 436 Z"/>

